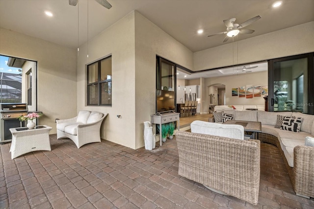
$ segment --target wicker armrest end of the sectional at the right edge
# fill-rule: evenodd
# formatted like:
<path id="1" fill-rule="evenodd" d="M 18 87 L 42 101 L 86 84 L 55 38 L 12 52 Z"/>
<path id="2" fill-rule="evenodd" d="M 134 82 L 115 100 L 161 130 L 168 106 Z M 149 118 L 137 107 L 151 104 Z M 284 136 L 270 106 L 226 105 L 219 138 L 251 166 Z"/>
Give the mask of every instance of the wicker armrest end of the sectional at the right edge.
<path id="1" fill-rule="evenodd" d="M 294 190 L 314 198 L 314 147 L 294 147 Z"/>

